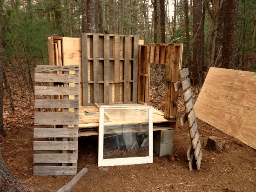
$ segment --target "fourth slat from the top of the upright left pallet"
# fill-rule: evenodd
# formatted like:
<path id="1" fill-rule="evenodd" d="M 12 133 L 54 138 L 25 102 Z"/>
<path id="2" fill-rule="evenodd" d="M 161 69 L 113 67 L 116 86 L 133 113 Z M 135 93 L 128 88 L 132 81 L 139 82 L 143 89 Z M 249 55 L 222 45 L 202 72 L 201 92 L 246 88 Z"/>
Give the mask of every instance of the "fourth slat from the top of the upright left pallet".
<path id="1" fill-rule="evenodd" d="M 78 108 L 79 101 L 74 99 L 35 99 L 35 108 Z"/>

